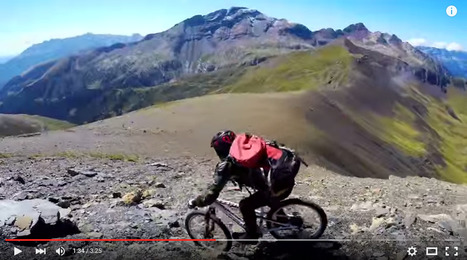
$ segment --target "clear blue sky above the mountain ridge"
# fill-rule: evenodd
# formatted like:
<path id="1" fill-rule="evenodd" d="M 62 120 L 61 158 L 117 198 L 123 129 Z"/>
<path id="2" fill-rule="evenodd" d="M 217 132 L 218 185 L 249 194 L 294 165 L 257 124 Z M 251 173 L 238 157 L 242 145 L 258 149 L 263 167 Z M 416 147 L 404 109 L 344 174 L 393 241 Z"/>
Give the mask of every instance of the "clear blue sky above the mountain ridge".
<path id="1" fill-rule="evenodd" d="M 457 7 L 449 17 L 446 8 Z M 15 0 L 0 1 L 0 56 L 34 43 L 92 33 L 148 34 L 231 6 L 302 23 L 311 30 L 363 22 L 414 44 L 467 49 L 465 0 Z"/>

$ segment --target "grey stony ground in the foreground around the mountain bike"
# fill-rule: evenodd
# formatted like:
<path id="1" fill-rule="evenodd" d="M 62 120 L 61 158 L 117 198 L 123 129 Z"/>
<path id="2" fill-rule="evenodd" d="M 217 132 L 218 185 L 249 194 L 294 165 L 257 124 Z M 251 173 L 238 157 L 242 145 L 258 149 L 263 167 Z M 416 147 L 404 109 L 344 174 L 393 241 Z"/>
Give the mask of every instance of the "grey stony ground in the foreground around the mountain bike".
<path id="1" fill-rule="evenodd" d="M 212 160 L 192 158 L 136 162 L 92 157 L 0 159 L 2 237 L 188 238 L 183 228 L 189 212 L 186 203 L 212 181 L 214 165 Z M 221 197 L 238 202 L 246 195 L 226 190 Z M 0 259 L 12 257 L 14 246 L 23 251 L 17 259 L 41 259 L 35 255 L 35 247 L 47 248 L 47 258 L 58 257 L 54 251 L 64 247 L 67 256 L 61 258 L 65 259 L 317 256 L 383 260 L 409 257 L 408 246 L 416 246 L 420 257 L 425 257 L 425 246 L 458 246 L 459 254 L 466 255 L 466 186 L 420 177 L 345 177 L 311 166 L 300 173 L 292 196 L 314 201 L 325 209 L 329 226 L 323 238 L 336 241 L 279 243 L 265 236 L 256 246 L 235 244 L 228 254 L 206 252 L 192 242 L 178 241 L 2 242 Z M 34 213 L 44 207 L 48 215 Z M 57 212 L 59 217 L 53 218 Z M 76 253 L 78 249 L 87 250 L 87 254 Z"/>

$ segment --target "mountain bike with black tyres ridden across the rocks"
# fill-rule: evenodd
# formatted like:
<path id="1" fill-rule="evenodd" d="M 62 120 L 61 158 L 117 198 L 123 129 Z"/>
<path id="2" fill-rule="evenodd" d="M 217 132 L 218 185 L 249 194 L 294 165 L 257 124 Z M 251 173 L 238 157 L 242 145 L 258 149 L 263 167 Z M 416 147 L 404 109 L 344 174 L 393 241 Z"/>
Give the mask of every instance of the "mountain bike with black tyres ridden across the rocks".
<path id="1" fill-rule="evenodd" d="M 236 215 L 232 208 L 238 209 L 239 205 L 217 199 L 206 211 L 194 210 L 190 212 L 185 219 L 188 235 L 192 239 L 215 240 L 195 241 L 198 246 L 229 251 L 232 247 L 232 233 L 216 215 L 216 210 L 223 212 L 241 228 L 246 229 L 243 219 Z M 308 210 L 308 212 L 303 212 L 304 210 Z M 270 233 L 278 240 L 317 239 L 321 237 L 327 227 L 326 213 L 319 205 L 295 198 L 283 200 L 269 211 L 262 207 L 256 210 L 256 217 L 261 232 L 263 234 Z"/>

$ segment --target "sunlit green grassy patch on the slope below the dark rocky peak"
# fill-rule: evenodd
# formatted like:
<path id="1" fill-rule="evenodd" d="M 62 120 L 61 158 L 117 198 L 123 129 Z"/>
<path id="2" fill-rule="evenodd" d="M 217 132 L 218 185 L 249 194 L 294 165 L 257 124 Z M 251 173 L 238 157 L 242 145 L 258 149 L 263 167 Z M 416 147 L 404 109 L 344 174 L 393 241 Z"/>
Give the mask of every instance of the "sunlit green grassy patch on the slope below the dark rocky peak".
<path id="1" fill-rule="evenodd" d="M 316 89 L 331 83 L 343 85 L 351 60 L 351 55 L 341 46 L 294 52 L 252 67 L 224 90 L 262 93 Z"/>

